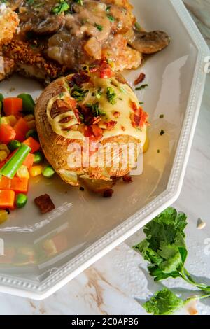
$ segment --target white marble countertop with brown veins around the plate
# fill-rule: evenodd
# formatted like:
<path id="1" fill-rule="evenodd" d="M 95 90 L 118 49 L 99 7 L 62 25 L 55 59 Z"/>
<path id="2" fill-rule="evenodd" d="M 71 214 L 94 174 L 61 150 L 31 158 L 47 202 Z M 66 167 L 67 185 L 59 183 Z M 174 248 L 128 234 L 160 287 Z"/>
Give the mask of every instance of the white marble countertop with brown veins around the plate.
<path id="1" fill-rule="evenodd" d="M 210 46 L 210 0 L 185 0 L 185 3 Z M 196 276 L 206 277 L 210 273 L 210 255 L 204 253 L 205 239 L 210 237 L 209 90 L 210 74 L 183 189 L 174 204 L 189 216 L 188 268 Z M 198 218 L 207 223 L 204 230 L 196 230 Z M 0 314 L 146 314 L 141 300 L 161 285 L 153 283 L 145 272 L 146 263 L 130 248 L 141 240 L 141 235 L 142 232 L 138 232 L 46 300 L 36 302 L 0 293 Z M 166 284 L 191 289 L 179 280 L 168 280 Z M 199 314 L 210 314 L 210 302 L 198 303 L 197 309 Z M 188 310 L 183 309 L 181 314 L 188 314 Z"/>

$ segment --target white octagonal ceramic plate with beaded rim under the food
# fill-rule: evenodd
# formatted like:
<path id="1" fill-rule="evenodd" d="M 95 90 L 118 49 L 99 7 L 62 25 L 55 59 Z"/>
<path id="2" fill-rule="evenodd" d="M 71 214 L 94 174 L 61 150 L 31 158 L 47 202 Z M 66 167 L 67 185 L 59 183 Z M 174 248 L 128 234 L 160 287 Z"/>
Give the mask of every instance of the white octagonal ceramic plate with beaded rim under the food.
<path id="1" fill-rule="evenodd" d="M 0 227 L 6 251 L 0 255 L 3 292 L 34 299 L 48 297 L 179 196 L 200 110 L 204 58 L 209 48 L 180 0 L 132 3 L 145 29 L 162 29 L 172 37 L 169 47 L 148 59 L 143 68 L 125 73 L 132 83 L 144 71 L 149 85 L 139 92 L 151 122 L 144 173 L 130 185 L 118 183 L 108 200 L 71 188 L 58 178 L 34 179 L 27 207 L 13 211 Z M 41 92 L 38 83 L 17 76 L 0 87 L 3 94 L 10 95 L 29 92 L 37 97 Z M 165 118 L 160 119 L 162 113 Z M 160 137 L 162 129 L 166 133 Z M 42 193 L 48 193 L 56 206 L 44 216 L 33 203 Z M 57 250 L 50 255 L 43 246 L 52 242 Z"/>

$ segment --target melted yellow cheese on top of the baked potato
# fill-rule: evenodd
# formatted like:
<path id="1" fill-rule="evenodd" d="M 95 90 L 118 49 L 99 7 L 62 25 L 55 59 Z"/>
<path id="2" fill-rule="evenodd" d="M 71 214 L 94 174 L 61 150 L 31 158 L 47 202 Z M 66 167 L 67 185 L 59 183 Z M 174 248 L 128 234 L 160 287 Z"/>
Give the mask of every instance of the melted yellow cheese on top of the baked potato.
<path id="1" fill-rule="evenodd" d="M 139 140 L 141 146 L 144 146 L 146 141 L 146 124 L 143 127 L 134 127 L 130 118 L 132 110 L 132 102 L 139 108 L 139 100 L 134 94 L 132 88 L 125 83 L 120 83 L 116 78 L 99 78 L 96 74 L 88 73 L 90 81 L 84 84 L 83 90 L 87 89 L 87 93 L 83 101 L 78 102 L 78 105 L 85 104 L 99 104 L 102 109 L 103 115 L 98 123 L 98 126 L 103 129 L 103 136 L 100 141 L 116 137 L 119 135 L 129 135 Z M 71 75 L 73 76 L 73 75 Z M 68 78 L 71 78 L 69 76 Z M 66 81 L 64 81 L 66 85 Z M 115 93 L 114 102 L 111 104 L 109 97 L 107 97 L 107 90 L 111 88 Z M 79 131 L 71 130 L 72 125 L 79 124 L 73 111 L 68 111 L 57 115 L 55 118 L 51 117 L 52 105 L 57 99 L 68 99 L 70 96 L 69 88 L 66 87 L 66 92 L 57 95 L 50 99 L 47 108 L 47 116 L 52 127 L 52 130 L 66 139 L 84 139 L 84 135 Z M 100 96 L 96 97 L 97 91 L 100 90 Z M 117 115 L 116 115 L 117 113 Z M 64 118 L 71 116 L 68 123 L 60 123 Z M 107 129 L 107 124 L 114 122 L 112 129 Z M 64 130 L 68 128 L 69 130 Z"/>

